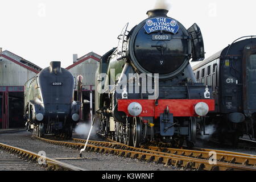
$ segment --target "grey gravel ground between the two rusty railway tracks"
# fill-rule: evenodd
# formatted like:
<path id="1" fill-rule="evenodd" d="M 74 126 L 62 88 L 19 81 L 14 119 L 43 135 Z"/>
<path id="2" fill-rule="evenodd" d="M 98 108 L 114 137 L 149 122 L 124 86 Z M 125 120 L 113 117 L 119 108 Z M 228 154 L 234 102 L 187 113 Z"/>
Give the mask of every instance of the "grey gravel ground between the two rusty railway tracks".
<path id="1" fill-rule="evenodd" d="M 74 135 L 74 137 L 78 137 Z M 81 137 L 83 138 L 83 137 Z M 56 146 L 32 140 L 31 133 L 26 131 L 19 133 L 0 134 L 0 142 L 11 146 L 20 147 L 32 152 L 45 151 L 49 158 L 76 158 L 80 151 L 64 146 Z M 61 160 L 61 162 L 73 164 L 81 168 L 93 171 L 176 171 L 174 167 L 165 167 L 163 164 L 139 162 L 138 159 L 124 158 L 112 154 L 100 154 L 97 152 L 83 152 L 85 159 Z"/>

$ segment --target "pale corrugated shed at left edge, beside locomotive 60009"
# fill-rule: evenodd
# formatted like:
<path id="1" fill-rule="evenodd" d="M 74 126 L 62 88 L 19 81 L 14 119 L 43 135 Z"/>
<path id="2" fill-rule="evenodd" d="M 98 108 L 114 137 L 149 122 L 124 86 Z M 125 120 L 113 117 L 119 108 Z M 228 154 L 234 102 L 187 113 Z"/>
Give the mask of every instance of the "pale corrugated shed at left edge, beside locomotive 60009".
<path id="1" fill-rule="evenodd" d="M 42 68 L 0 48 L 0 128 L 23 127 L 24 84 Z"/>

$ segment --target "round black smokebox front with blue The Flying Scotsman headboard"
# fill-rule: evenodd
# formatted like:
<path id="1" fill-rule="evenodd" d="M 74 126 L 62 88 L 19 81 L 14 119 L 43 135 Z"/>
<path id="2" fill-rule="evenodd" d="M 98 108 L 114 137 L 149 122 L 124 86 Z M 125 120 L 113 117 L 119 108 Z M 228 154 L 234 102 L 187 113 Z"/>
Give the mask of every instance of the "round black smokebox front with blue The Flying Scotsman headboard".
<path id="1" fill-rule="evenodd" d="M 160 79 L 183 71 L 192 53 L 188 31 L 167 13 L 164 9 L 148 11 L 146 24 L 144 21 L 138 24 L 129 39 L 128 54 L 134 67 L 142 73 L 158 73 Z"/>

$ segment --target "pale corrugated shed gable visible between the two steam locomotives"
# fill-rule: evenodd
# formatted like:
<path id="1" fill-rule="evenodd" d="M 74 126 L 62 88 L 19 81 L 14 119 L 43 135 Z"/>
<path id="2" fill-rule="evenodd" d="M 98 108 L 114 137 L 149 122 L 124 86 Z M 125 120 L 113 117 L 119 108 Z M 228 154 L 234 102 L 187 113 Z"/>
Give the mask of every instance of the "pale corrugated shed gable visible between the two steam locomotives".
<path id="1" fill-rule="evenodd" d="M 92 92 L 93 98 L 93 113 L 94 113 L 94 97 L 95 97 L 95 73 L 97 71 L 101 56 L 94 52 L 89 52 L 86 55 L 79 57 L 77 54 L 73 55 L 73 64 L 67 67 L 69 72 L 72 73 L 75 78 L 75 100 L 79 100 L 77 97 L 78 77 L 82 76 L 82 109 L 80 112 L 81 119 L 84 121 L 90 118 L 90 92 Z"/>

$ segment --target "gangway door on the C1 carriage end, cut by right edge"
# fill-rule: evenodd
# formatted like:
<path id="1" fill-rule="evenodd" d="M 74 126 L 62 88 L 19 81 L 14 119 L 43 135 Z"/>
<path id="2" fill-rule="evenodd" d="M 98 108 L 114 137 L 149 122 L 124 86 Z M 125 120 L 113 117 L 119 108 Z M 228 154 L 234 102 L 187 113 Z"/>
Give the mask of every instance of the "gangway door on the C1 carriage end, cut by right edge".
<path id="1" fill-rule="evenodd" d="M 247 116 L 256 112 L 256 47 L 243 51 L 243 110 Z"/>

